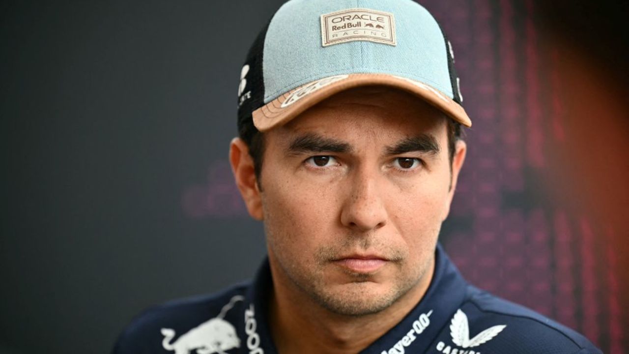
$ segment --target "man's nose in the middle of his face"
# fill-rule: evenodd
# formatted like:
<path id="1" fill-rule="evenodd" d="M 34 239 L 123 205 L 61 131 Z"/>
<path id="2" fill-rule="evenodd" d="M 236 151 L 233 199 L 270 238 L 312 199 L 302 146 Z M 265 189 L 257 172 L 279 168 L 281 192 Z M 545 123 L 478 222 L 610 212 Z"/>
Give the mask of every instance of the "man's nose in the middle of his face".
<path id="1" fill-rule="evenodd" d="M 366 232 L 385 226 L 387 211 L 379 190 L 377 174 L 356 173 L 343 204 L 341 222 L 354 231 Z"/>

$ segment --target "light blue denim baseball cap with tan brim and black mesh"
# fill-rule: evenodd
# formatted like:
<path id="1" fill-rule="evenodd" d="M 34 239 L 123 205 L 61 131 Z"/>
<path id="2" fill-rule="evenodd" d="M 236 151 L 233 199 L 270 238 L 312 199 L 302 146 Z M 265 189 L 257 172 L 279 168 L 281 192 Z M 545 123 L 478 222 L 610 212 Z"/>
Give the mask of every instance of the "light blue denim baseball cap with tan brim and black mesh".
<path id="1" fill-rule="evenodd" d="M 425 100 L 456 122 L 462 107 L 454 52 L 412 0 L 291 0 L 253 42 L 238 86 L 238 125 L 264 132 L 345 89 L 384 85 Z"/>

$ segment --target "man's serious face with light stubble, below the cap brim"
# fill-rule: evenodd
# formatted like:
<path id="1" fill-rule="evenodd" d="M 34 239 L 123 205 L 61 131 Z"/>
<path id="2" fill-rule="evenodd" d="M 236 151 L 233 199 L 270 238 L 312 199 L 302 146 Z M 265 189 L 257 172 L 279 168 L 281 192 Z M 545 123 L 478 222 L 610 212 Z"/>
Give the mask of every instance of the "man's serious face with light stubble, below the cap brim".
<path id="1" fill-rule="evenodd" d="M 265 133 L 274 281 L 346 315 L 427 287 L 465 155 L 460 143 L 451 174 L 447 146 L 443 114 L 390 88 L 344 91 Z"/>

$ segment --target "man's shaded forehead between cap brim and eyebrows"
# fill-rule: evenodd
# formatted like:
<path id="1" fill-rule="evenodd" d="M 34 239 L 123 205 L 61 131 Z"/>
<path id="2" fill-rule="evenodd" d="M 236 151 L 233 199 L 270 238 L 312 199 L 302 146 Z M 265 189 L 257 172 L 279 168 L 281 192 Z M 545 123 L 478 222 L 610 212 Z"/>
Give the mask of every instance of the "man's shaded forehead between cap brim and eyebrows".
<path id="1" fill-rule="evenodd" d="M 294 135 L 314 132 L 348 141 L 430 134 L 441 144 L 447 139 L 447 119 L 414 94 L 387 86 L 363 86 L 337 93 L 270 130 L 267 142 L 281 144 Z"/>

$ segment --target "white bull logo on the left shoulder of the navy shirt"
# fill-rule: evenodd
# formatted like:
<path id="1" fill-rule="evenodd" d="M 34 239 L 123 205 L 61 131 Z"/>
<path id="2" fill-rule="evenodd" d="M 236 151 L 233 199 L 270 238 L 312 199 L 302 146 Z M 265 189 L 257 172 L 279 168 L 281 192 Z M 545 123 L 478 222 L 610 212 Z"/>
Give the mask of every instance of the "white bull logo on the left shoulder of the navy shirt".
<path id="1" fill-rule="evenodd" d="M 237 301 L 243 299 L 240 295 L 232 297 L 230 303 L 223 306 L 218 316 L 182 334 L 174 343 L 170 343 L 170 341 L 175 337 L 175 331 L 170 328 L 162 328 L 162 335 L 164 336 L 162 346 L 165 350 L 174 351 L 175 354 L 189 354 L 194 350 L 198 354 L 225 354 L 226 350 L 239 348 L 240 339 L 236 334 L 236 329 L 223 317 Z"/>

